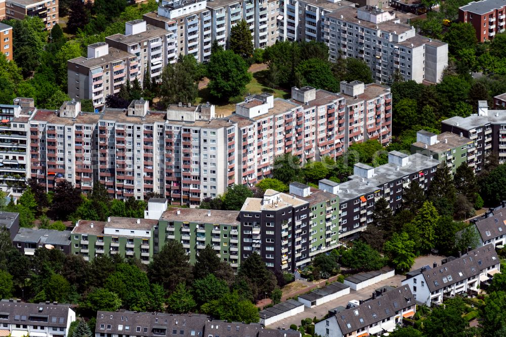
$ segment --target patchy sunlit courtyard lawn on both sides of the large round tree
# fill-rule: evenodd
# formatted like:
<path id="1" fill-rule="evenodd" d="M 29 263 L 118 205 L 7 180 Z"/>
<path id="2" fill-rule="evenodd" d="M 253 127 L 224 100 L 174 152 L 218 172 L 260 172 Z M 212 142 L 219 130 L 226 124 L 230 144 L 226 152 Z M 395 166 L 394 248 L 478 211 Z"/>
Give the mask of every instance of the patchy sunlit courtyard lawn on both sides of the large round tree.
<path id="1" fill-rule="evenodd" d="M 266 72 L 267 72 L 266 70 L 263 70 L 253 74 L 253 78 L 246 85 L 245 94 L 247 93 L 260 94 L 263 92 L 268 92 L 272 93 L 275 98 L 277 97 L 285 99 L 290 98 L 290 94 L 285 92 L 284 90 L 272 89 L 262 84 Z M 217 116 L 220 115 L 228 116 L 235 111 L 235 104 L 229 102 L 217 102 L 213 100 L 212 97 L 210 97 L 209 90 L 207 88 L 202 88 L 198 91 L 197 103 L 205 103 L 205 102 L 215 104 L 215 112 Z"/>

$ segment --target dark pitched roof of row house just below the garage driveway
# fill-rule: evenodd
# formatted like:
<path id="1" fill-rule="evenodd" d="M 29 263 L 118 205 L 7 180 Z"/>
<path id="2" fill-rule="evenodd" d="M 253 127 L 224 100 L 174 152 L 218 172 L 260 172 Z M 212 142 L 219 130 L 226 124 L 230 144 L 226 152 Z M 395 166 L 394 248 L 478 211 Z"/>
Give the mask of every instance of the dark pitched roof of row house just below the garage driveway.
<path id="1" fill-rule="evenodd" d="M 407 285 L 386 291 L 381 296 L 372 298 L 361 305 L 336 314 L 341 332 L 356 331 L 365 326 L 392 317 L 398 310 L 414 305 L 414 298 Z"/>

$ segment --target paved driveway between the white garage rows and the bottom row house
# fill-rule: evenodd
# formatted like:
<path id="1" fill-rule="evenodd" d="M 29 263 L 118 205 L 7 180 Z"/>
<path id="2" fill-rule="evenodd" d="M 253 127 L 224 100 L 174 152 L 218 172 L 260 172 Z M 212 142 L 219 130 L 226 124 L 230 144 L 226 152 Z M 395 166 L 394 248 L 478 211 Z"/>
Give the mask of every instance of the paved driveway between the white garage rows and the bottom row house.
<path id="1" fill-rule="evenodd" d="M 343 297 L 340 297 L 339 299 L 335 299 L 333 301 L 327 302 L 321 306 L 315 307 L 315 308 L 305 308 L 304 312 L 301 312 L 300 314 L 297 314 L 295 316 L 291 316 L 288 318 L 285 318 L 283 320 L 277 321 L 272 325 L 269 325 L 270 328 L 286 328 L 288 329 L 291 324 L 301 325 L 301 319 L 304 318 L 313 318 L 317 317 L 318 319 L 322 318 L 327 314 L 327 311 L 330 309 L 333 309 L 335 307 L 344 306 L 348 304 L 351 300 L 366 300 L 371 297 L 372 292 L 374 289 L 377 289 L 379 287 L 382 287 L 384 285 L 391 285 L 391 286 L 399 286 L 401 285 L 401 281 L 405 277 L 402 275 L 395 275 L 394 277 L 391 277 L 389 279 L 386 279 L 385 281 L 378 282 L 376 284 L 370 285 L 368 287 L 365 287 L 363 289 L 360 289 L 359 291 L 350 290 L 350 293 L 348 295 L 345 295 Z"/>

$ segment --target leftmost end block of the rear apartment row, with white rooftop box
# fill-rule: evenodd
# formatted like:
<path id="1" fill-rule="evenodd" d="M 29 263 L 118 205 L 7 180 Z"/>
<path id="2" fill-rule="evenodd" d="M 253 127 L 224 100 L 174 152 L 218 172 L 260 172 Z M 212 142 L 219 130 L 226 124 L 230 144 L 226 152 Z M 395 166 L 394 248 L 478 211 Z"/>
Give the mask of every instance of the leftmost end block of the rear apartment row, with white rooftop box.
<path id="1" fill-rule="evenodd" d="M 96 111 L 105 106 L 108 95 L 119 93 L 127 80 L 140 76 L 136 55 L 109 48 L 105 42 L 89 45 L 87 56 L 67 61 L 68 96 L 91 99 Z"/>

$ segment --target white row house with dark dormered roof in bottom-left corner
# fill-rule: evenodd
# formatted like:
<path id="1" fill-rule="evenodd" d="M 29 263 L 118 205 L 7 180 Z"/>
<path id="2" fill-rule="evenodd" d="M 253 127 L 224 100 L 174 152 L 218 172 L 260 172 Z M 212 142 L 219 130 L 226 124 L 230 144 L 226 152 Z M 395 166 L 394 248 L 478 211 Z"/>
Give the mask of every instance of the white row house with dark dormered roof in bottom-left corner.
<path id="1" fill-rule="evenodd" d="M 0 301 L 0 333 L 6 336 L 66 337 L 75 311 L 70 304 Z"/>

